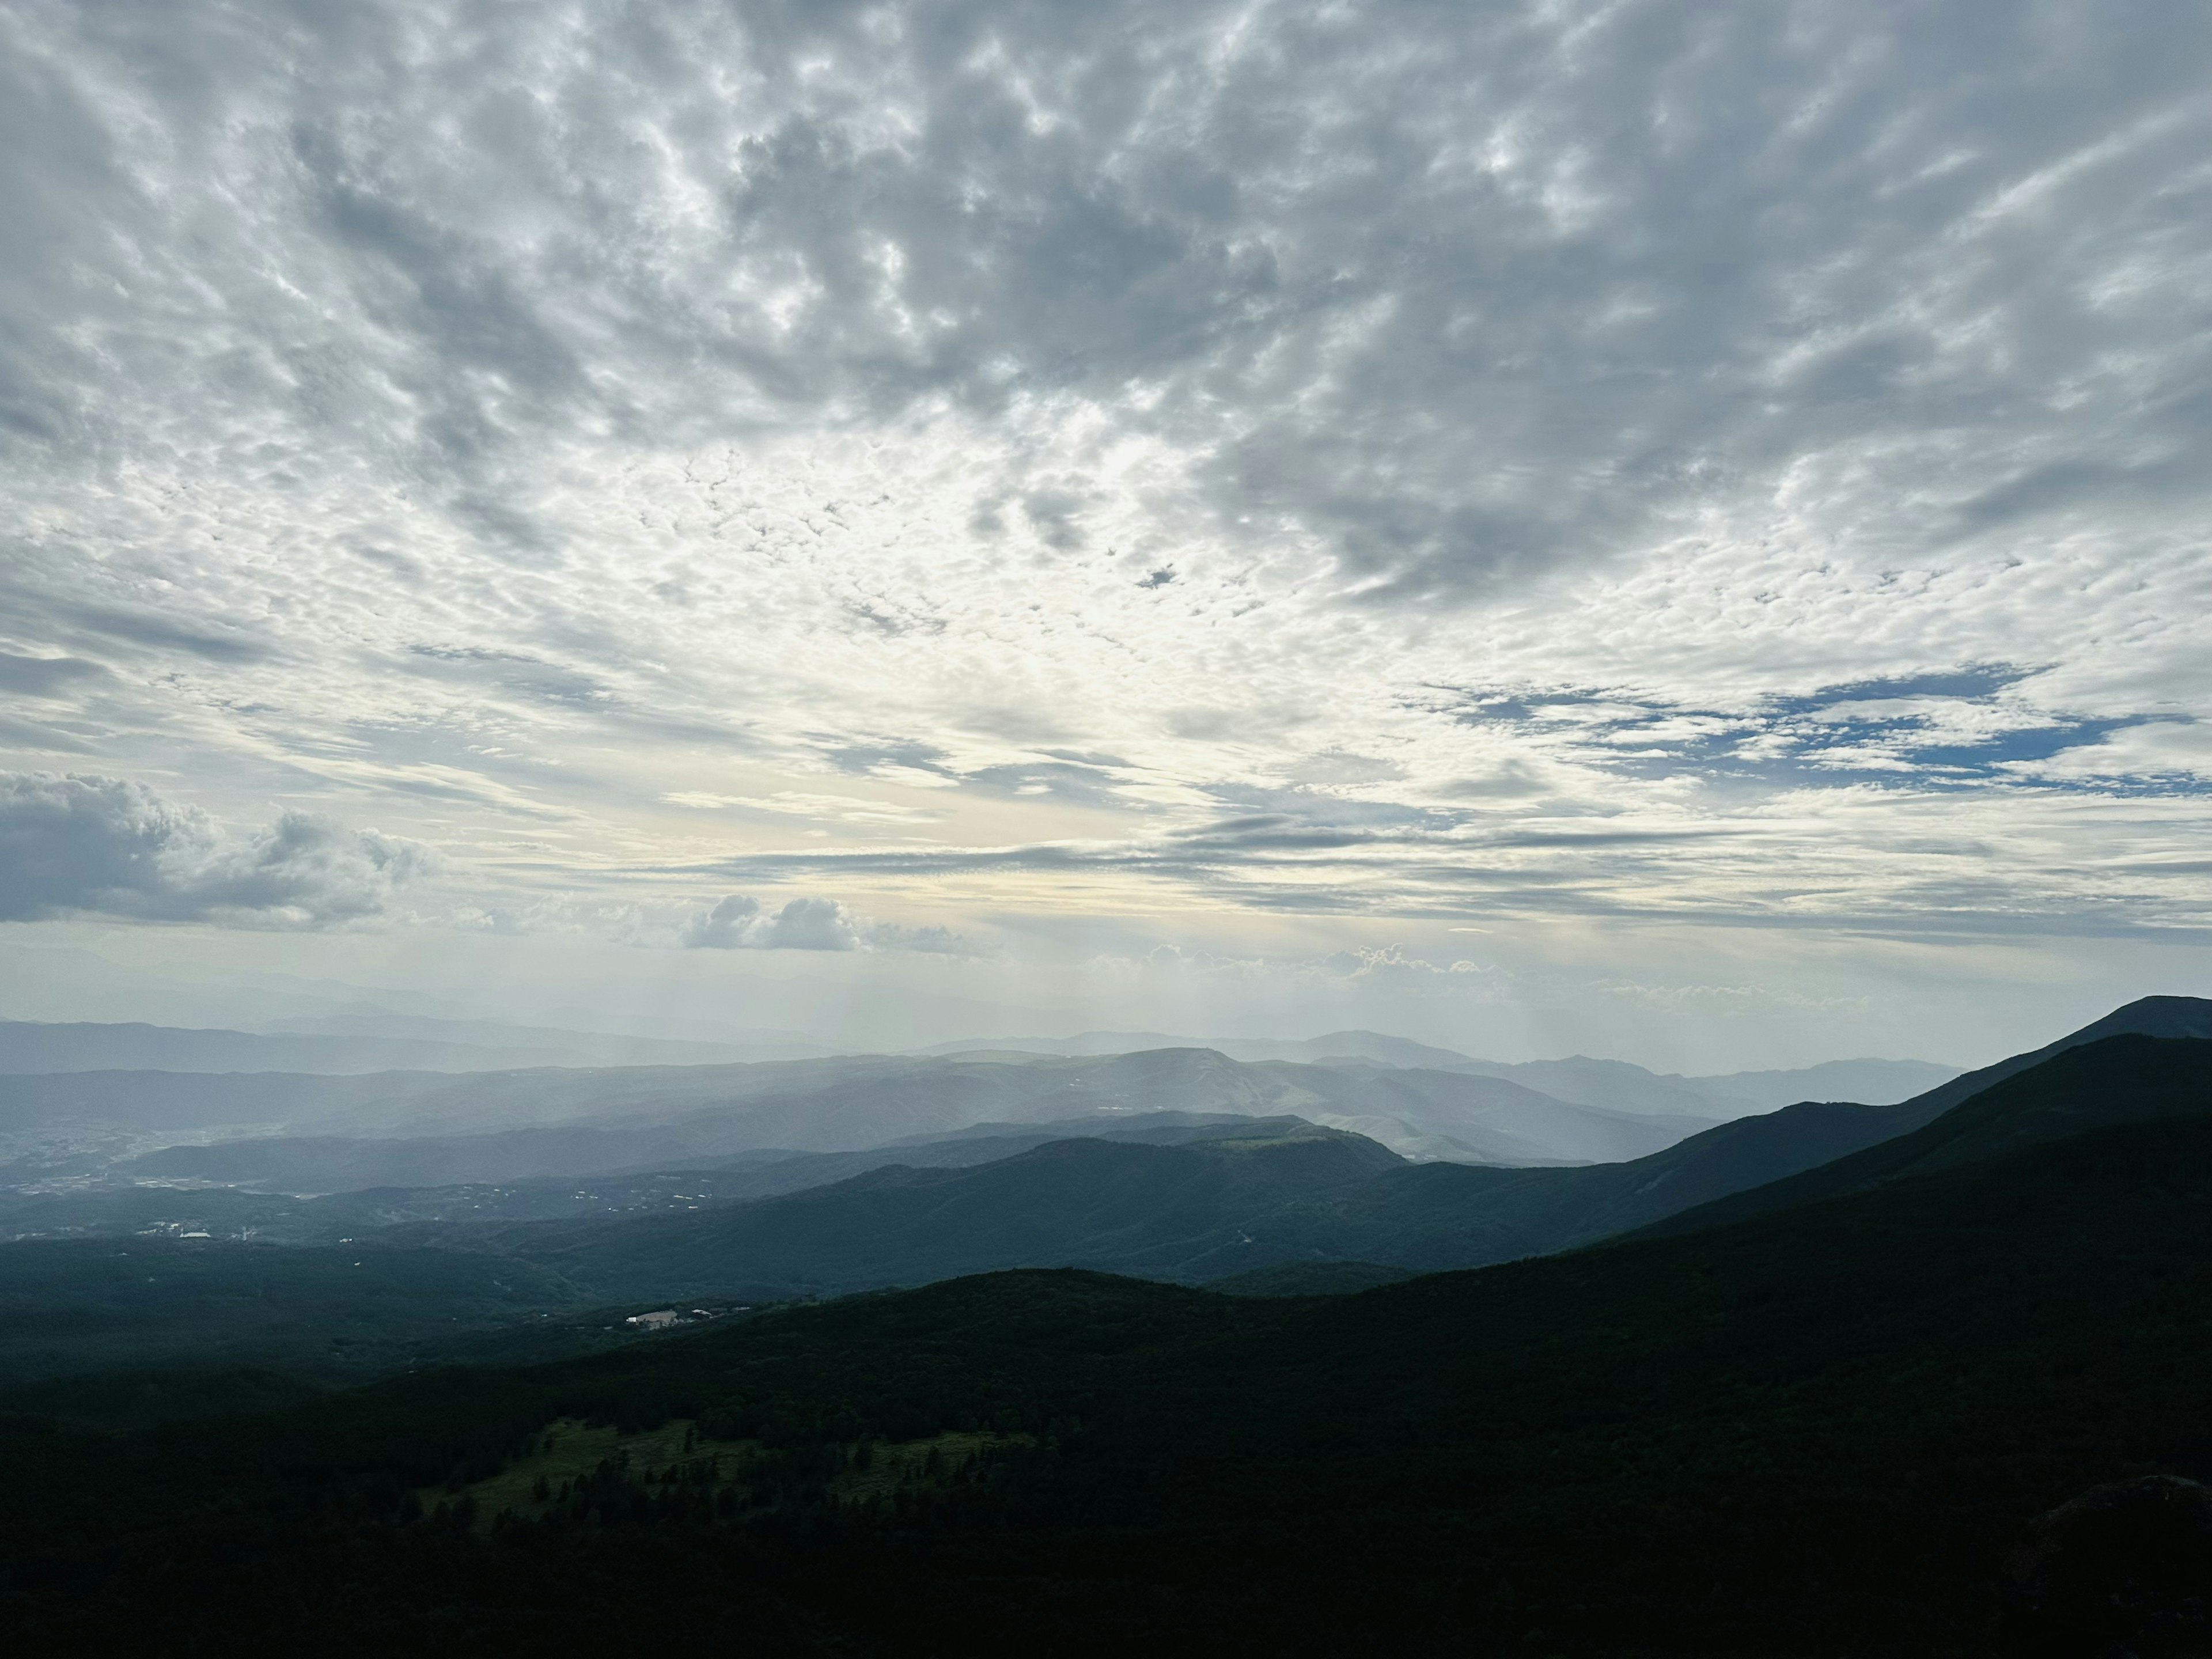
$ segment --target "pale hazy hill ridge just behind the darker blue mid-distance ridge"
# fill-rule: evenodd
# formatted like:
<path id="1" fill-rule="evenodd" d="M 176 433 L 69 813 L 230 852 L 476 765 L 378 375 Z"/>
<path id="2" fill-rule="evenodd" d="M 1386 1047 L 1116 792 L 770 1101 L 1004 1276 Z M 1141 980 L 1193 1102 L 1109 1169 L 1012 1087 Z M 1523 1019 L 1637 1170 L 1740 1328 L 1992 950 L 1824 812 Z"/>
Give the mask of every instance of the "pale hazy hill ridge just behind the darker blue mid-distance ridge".
<path id="1" fill-rule="evenodd" d="M 18 1137 L 15 1168 L 0 1181 L 84 1177 L 131 1155 L 139 1161 L 119 1170 L 128 1177 L 334 1192 L 668 1168 L 759 1150 L 854 1152 L 978 1124 L 1079 1133 L 1084 1121 L 1161 1110 L 1287 1113 L 1405 1157 L 1513 1166 L 1641 1157 L 1714 1121 L 1577 1106 L 1475 1073 L 1237 1062 L 1212 1048 L 467 1075 L 49 1073 L 0 1077 L 0 1133 Z M 124 1139 L 86 1146 L 93 1128 Z M 221 1139 L 237 1148 L 157 1146 Z"/>

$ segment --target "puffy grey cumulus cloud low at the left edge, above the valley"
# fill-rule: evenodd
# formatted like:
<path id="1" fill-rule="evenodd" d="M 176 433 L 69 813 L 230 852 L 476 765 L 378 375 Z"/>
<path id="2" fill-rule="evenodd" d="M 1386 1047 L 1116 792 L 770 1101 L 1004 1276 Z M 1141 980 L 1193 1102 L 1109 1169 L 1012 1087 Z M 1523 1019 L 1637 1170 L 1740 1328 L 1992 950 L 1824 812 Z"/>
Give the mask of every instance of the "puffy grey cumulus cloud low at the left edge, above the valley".
<path id="1" fill-rule="evenodd" d="M 416 843 L 305 812 L 230 836 L 128 779 L 0 772 L 0 920 L 332 927 L 380 914 L 427 867 Z"/>

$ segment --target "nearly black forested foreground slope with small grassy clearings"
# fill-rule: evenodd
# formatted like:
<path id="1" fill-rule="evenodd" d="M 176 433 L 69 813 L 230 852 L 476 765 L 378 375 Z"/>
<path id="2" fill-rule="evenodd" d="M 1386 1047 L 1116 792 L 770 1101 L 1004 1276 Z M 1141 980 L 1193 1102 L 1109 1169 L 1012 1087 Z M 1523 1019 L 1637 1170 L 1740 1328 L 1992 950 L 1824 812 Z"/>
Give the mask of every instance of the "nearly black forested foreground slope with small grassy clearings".
<path id="1" fill-rule="evenodd" d="M 20 1425 L 4 1617 L 49 1646 L 619 1650 L 644 1601 L 655 1641 L 754 1650 L 1989 1652 L 2031 1517 L 2212 1473 L 2208 1217 L 2190 1115 L 1358 1296 L 1000 1274 L 157 1442 Z M 737 1475 L 608 1464 L 509 1486 L 522 1520 L 403 1520 L 416 1486 L 491 1502 L 560 1420 L 668 1418 Z"/>

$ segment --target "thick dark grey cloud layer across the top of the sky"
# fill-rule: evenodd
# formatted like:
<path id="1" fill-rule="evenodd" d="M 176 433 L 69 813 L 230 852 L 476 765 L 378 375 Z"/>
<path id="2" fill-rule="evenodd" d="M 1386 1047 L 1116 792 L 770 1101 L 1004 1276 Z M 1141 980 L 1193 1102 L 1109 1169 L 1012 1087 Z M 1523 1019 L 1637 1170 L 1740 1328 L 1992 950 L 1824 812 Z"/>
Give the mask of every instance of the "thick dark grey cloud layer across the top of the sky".
<path id="1" fill-rule="evenodd" d="M 1863 442 L 1966 529 L 2194 500 L 2208 345 L 2152 296 L 2212 221 L 2201 9 L 345 11 L 35 9 L 0 97 L 22 434 L 97 425 L 113 372 L 276 394 L 542 560 L 500 482 L 546 434 L 1146 385 L 1128 420 L 1212 456 L 1223 522 L 1321 533 L 1371 597 Z M 69 272 L 181 234 L 124 104 L 226 181 L 190 292 L 268 330 L 228 378 L 75 345 L 113 312 Z M 1084 544 L 1079 491 L 1022 507 Z"/>

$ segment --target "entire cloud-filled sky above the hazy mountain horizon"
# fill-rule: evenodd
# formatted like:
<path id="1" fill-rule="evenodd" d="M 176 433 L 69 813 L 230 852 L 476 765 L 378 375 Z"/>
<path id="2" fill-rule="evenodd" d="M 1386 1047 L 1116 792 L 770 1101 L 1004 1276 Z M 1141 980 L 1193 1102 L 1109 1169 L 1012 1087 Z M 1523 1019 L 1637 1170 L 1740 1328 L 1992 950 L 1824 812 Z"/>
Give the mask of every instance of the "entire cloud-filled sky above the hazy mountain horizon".
<path id="1" fill-rule="evenodd" d="M 0 0 L 0 1013 L 2212 991 L 2208 86 L 2170 0 Z"/>

